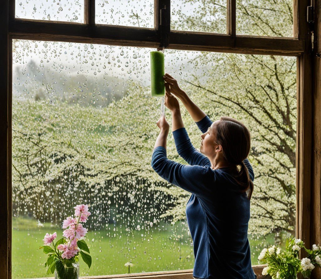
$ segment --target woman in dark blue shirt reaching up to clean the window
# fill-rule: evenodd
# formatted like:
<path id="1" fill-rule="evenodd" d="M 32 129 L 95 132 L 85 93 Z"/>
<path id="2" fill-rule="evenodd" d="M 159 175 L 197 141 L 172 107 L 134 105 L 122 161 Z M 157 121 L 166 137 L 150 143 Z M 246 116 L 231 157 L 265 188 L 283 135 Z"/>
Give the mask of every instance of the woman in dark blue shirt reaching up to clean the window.
<path id="1" fill-rule="evenodd" d="M 160 134 L 152 154 L 152 168 L 168 182 L 192 193 L 186 216 L 194 244 L 193 276 L 202 279 L 253 279 L 247 239 L 253 169 L 247 159 L 250 133 L 239 121 L 221 117 L 212 122 L 165 74 L 165 106 L 172 112 L 172 133 L 178 154 L 189 165 L 167 159 L 169 124 L 157 121 Z M 184 127 L 178 97 L 201 135 L 198 152 Z"/>

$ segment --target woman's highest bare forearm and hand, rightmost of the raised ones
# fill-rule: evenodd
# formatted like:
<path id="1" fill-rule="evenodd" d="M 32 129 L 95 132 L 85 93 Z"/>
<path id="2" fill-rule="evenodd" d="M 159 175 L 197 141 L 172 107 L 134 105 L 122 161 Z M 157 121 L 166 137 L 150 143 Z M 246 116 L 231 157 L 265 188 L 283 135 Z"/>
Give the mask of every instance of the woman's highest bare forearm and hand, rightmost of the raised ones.
<path id="1" fill-rule="evenodd" d="M 167 73 L 163 76 L 163 79 L 165 82 L 169 83 L 170 92 L 182 101 L 194 122 L 198 122 L 206 116 L 206 113 L 188 97 L 186 92 L 179 88 L 176 79 Z"/>

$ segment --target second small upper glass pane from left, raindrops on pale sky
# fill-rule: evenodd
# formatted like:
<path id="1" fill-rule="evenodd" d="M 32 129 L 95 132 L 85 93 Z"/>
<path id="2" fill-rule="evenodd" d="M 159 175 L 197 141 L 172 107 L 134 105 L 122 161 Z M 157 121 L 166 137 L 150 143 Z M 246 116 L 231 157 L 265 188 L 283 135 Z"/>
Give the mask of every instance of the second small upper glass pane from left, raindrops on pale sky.
<path id="1" fill-rule="evenodd" d="M 96 23 L 154 28 L 154 1 L 96 0 Z"/>

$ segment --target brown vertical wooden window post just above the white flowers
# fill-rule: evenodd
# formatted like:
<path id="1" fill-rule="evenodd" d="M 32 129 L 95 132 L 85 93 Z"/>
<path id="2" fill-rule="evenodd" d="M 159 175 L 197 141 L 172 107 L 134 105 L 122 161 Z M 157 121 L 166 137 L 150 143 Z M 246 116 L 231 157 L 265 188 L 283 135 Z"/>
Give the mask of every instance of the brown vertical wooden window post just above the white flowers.
<path id="1" fill-rule="evenodd" d="M 309 0 L 301 0 L 298 5 L 299 39 L 305 40 L 305 52 L 297 59 L 297 149 L 296 149 L 296 237 L 310 247 L 311 214 L 311 151 L 312 151 L 312 71 L 309 55 L 308 24 L 306 10 Z M 305 257 L 301 250 L 300 257 Z"/>

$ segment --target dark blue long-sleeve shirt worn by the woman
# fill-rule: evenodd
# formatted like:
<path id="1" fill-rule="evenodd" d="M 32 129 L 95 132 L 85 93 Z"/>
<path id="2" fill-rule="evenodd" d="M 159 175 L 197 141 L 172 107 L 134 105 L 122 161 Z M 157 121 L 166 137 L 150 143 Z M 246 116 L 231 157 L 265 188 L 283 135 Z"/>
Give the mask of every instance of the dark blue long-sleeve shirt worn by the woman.
<path id="1" fill-rule="evenodd" d="M 212 125 L 206 116 L 196 122 L 202 133 Z M 190 165 L 167 158 L 158 146 L 152 154 L 152 168 L 168 182 L 192 193 L 186 217 L 194 244 L 193 276 L 204 279 L 253 279 L 247 239 L 250 201 L 239 193 L 226 168 L 213 170 L 209 159 L 192 145 L 185 128 L 173 131 L 178 154 Z M 251 164 L 244 160 L 251 179 Z"/>

